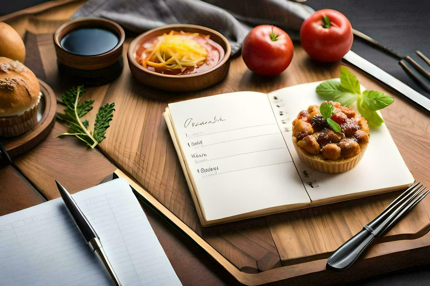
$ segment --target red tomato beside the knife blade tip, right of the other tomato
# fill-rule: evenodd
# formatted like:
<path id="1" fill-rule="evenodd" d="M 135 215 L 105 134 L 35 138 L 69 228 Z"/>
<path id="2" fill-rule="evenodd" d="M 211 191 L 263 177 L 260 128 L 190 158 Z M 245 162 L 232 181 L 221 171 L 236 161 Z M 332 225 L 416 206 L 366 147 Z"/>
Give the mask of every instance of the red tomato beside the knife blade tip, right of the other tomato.
<path id="1" fill-rule="evenodd" d="M 300 28 L 301 45 L 320 62 L 340 60 L 350 50 L 353 37 L 350 21 L 332 9 L 316 11 Z"/>

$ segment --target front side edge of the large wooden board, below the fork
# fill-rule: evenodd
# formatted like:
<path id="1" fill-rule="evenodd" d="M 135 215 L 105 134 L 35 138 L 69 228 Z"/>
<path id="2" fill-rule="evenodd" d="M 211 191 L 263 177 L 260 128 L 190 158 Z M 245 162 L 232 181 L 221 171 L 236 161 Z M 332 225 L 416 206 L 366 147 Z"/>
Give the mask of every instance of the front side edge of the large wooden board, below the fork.
<path id="1" fill-rule="evenodd" d="M 145 204 L 151 205 L 153 209 L 157 209 L 166 220 L 178 227 L 185 236 L 195 241 L 233 277 L 246 285 L 259 285 L 263 283 L 273 283 L 275 285 L 285 285 L 286 283 L 291 285 L 346 283 L 396 269 L 422 265 L 428 263 L 429 260 L 427 252 L 430 250 L 430 233 L 427 232 L 423 236 L 411 241 L 396 240 L 374 244 L 372 249 L 366 251 L 345 271 L 326 269 L 326 259 L 316 259 L 261 271 L 256 274 L 249 274 L 240 271 L 232 262 L 222 256 L 208 241 L 194 232 L 193 229 L 190 229 L 172 211 L 155 199 L 149 191 L 143 189 L 135 179 L 128 177 L 120 170 L 116 170 L 115 174 L 126 180 Z M 224 226 L 227 226 L 227 224 Z"/>

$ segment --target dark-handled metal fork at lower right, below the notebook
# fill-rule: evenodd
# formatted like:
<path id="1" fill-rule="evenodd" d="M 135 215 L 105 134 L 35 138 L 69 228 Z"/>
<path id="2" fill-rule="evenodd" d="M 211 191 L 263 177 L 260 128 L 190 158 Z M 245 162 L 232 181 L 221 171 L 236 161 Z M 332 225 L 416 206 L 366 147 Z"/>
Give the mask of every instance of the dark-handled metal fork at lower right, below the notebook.
<path id="1" fill-rule="evenodd" d="M 405 192 L 398 196 L 381 214 L 363 229 L 341 245 L 327 260 L 326 268 L 345 270 L 369 246 L 373 238 L 381 236 L 396 224 L 408 211 L 421 202 L 430 189 L 415 182 Z"/>

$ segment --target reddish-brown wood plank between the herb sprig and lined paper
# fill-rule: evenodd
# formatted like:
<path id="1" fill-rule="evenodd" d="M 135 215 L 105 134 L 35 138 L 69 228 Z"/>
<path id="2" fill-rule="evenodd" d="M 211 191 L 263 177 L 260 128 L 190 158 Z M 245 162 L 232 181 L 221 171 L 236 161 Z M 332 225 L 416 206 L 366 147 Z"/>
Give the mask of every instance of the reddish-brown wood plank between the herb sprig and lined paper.
<path id="1" fill-rule="evenodd" d="M 98 150 L 87 148 L 74 136 L 57 138 L 66 131 L 66 126 L 55 122 L 45 140 L 13 160 L 19 172 L 49 200 L 60 196 L 54 180 L 75 193 L 100 184 L 116 169 Z"/>

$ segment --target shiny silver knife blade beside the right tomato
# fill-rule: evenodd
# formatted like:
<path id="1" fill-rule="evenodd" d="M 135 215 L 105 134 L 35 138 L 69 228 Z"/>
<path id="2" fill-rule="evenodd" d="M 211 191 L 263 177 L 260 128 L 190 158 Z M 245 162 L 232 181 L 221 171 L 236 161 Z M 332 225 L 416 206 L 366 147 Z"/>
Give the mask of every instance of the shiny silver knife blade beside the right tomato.
<path id="1" fill-rule="evenodd" d="M 363 59 L 353 51 L 347 52 L 347 54 L 344 55 L 344 60 L 347 60 L 359 69 L 364 70 L 365 72 L 382 81 L 384 84 L 389 85 L 399 93 L 402 93 L 404 96 L 421 105 L 423 108 L 427 109 L 427 111 L 430 111 L 430 99 L 413 90 L 411 87 L 408 87 L 402 81 L 399 81 L 397 78 L 393 77 L 387 72 L 384 72 L 373 63 Z"/>

